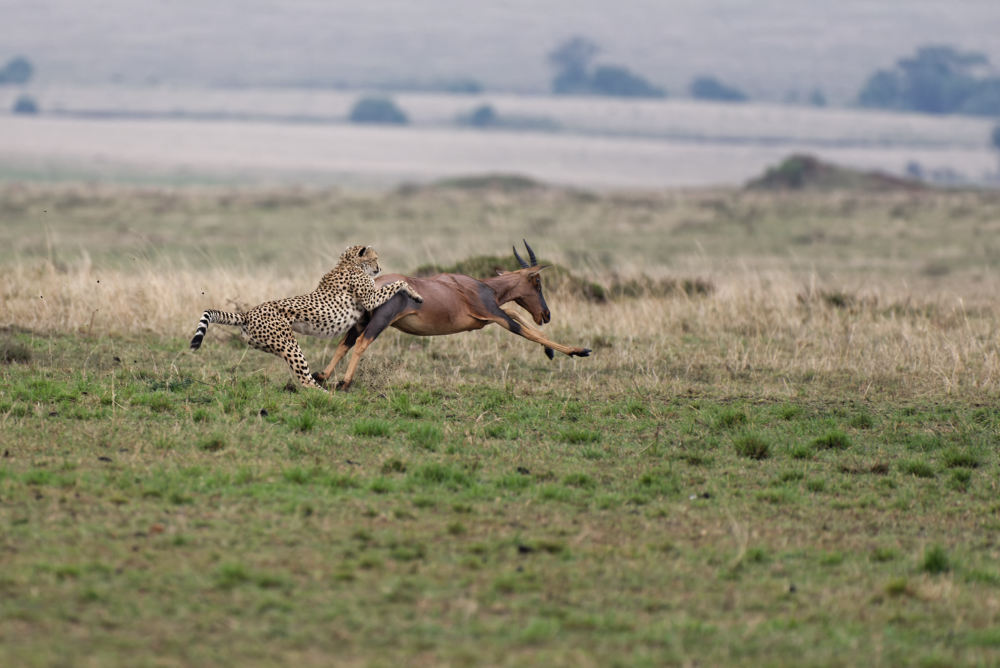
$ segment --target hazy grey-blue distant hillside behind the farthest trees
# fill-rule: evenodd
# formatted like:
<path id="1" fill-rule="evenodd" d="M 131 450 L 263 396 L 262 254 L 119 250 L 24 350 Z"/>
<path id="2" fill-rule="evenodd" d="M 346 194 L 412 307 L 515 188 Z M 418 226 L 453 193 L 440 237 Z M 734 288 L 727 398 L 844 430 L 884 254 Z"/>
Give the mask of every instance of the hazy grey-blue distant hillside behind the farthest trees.
<path id="1" fill-rule="evenodd" d="M 585 35 L 596 63 L 684 94 L 711 75 L 757 100 L 820 89 L 853 100 L 876 68 L 927 43 L 1000 64 L 995 0 L 463 0 L 363 3 L 0 0 L 0 62 L 27 56 L 46 83 L 382 86 L 547 92 L 545 56 Z"/>

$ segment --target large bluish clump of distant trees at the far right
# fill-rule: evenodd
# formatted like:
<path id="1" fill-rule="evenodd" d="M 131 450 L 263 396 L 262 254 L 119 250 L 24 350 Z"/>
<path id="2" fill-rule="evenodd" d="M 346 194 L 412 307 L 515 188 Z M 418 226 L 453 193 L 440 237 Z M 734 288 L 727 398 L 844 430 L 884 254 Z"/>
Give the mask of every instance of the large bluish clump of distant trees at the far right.
<path id="1" fill-rule="evenodd" d="M 1000 79 L 984 76 L 988 68 L 982 53 L 923 46 L 893 69 L 872 74 L 858 93 L 858 104 L 928 114 L 1000 113 Z"/>

